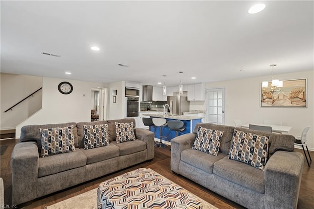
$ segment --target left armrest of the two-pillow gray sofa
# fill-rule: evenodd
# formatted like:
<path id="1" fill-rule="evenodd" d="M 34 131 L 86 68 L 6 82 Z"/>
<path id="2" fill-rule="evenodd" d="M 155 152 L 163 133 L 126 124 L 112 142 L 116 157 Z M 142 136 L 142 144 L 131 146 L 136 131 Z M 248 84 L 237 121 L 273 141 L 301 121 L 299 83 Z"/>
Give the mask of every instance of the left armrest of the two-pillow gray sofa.
<path id="1" fill-rule="evenodd" d="M 179 163 L 181 152 L 183 150 L 192 148 L 195 137 L 195 133 L 187 133 L 171 139 L 171 170 L 173 172 L 180 174 Z"/>

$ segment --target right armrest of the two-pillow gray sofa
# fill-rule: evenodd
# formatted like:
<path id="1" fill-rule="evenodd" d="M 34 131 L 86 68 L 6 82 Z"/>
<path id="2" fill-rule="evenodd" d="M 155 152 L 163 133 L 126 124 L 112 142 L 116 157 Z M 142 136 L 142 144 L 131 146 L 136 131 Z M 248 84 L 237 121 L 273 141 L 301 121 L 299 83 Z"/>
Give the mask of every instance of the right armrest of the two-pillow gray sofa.
<path id="1" fill-rule="evenodd" d="M 298 152 L 277 151 L 269 158 L 264 174 L 265 208 L 297 207 L 303 163 Z"/>

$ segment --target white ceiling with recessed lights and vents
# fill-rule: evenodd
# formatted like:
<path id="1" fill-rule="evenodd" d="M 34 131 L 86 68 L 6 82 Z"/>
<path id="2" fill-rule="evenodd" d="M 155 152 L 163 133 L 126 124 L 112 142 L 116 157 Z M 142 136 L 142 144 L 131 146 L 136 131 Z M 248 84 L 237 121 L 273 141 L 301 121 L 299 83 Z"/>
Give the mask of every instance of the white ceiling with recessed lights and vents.
<path id="1" fill-rule="evenodd" d="M 314 70 L 314 1 L 256 2 L 1 0 L 0 70 L 154 86 Z"/>

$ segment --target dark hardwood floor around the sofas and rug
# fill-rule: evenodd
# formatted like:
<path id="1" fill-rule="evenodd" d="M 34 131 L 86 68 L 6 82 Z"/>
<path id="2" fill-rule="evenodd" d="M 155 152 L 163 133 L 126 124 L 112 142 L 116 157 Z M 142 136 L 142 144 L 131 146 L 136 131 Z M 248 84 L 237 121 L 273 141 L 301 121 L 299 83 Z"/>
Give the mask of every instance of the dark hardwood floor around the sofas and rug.
<path id="1" fill-rule="evenodd" d="M 1 140 L 0 145 L 8 145 L 7 150 L 4 155 L 0 156 L 0 176 L 3 178 L 4 182 L 4 204 L 11 204 L 12 201 L 12 177 L 10 170 L 10 157 L 14 145 L 18 143 L 18 140 Z M 295 149 L 297 152 L 302 152 L 302 150 Z M 314 152 L 311 152 L 312 159 L 314 159 Z M 138 165 L 131 166 L 127 169 L 115 172 L 110 175 L 106 175 L 102 178 L 98 178 L 93 181 L 86 183 L 81 183 L 77 186 L 55 192 L 51 195 L 38 198 L 36 200 L 27 202 L 19 206 L 19 208 L 25 209 L 43 209 L 45 206 L 52 205 L 54 203 L 60 202 L 62 200 L 74 197 L 83 192 L 89 191 L 91 189 L 97 188 L 98 185 L 112 177 L 119 176 L 127 171 L 132 171 L 134 169 L 146 167 L 151 168 L 174 183 L 179 184 L 183 188 L 189 190 L 193 194 L 199 196 L 200 198 L 206 200 L 210 204 L 214 205 L 220 209 L 241 209 L 243 207 L 237 205 L 236 203 L 214 193 L 210 190 L 198 185 L 182 176 L 177 176 L 172 173 L 170 169 L 170 151 L 167 148 L 155 148 L 155 158 L 151 162 L 144 162 Z M 298 209 L 313 209 L 314 208 L 314 163 L 312 167 L 309 168 L 306 161 L 304 162 L 303 175 L 301 181 L 301 189 L 299 194 Z"/>

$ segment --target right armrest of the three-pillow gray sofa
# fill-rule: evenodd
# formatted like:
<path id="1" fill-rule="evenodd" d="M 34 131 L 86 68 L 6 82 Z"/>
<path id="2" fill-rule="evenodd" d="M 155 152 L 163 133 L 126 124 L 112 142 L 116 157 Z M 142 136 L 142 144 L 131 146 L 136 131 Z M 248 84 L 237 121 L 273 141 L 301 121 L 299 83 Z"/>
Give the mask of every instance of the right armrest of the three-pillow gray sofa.
<path id="1" fill-rule="evenodd" d="M 137 139 L 146 143 L 147 160 L 153 159 L 155 157 L 154 132 L 145 129 L 134 128 L 134 133 Z"/>

